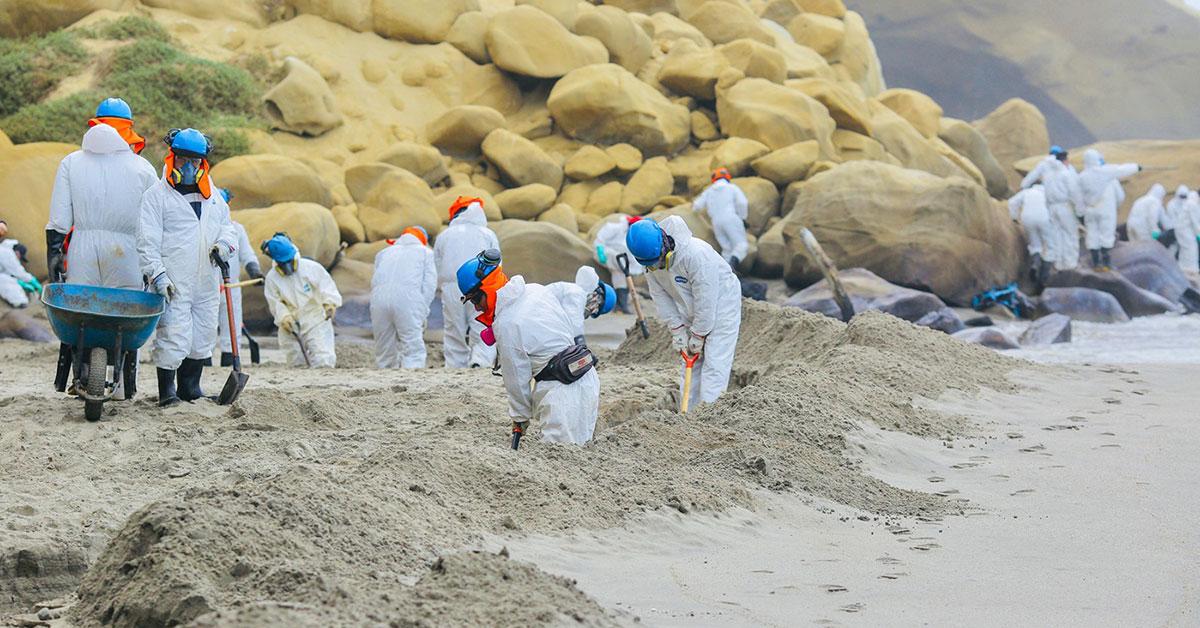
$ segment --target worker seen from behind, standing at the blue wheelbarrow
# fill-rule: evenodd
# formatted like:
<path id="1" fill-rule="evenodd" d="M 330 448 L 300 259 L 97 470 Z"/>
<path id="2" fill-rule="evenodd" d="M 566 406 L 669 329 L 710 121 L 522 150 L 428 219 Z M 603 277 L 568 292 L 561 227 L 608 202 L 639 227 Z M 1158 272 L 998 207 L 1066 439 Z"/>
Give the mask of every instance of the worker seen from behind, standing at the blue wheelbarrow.
<path id="1" fill-rule="evenodd" d="M 46 223 L 47 281 L 139 291 L 139 208 L 158 175 L 138 155 L 145 139 L 133 132 L 133 113 L 125 101 L 101 102 L 88 126 L 82 148 L 64 157 L 54 175 Z M 54 388 L 60 393 L 67 388 L 72 351 L 59 347 Z M 132 399 L 137 388 L 137 352 L 128 352 L 124 363 L 115 399 Z"/>

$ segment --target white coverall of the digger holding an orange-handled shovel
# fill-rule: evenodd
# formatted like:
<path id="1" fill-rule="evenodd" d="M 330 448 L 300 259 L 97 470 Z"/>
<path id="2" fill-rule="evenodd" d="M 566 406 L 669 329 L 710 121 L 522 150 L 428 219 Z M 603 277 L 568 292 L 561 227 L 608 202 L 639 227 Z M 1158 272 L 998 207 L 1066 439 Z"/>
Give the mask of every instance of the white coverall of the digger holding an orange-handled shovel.
<path id="1" fill-rule="evenodd" d="M 710 403 L 730 383 L 742 327 L 742 285 L 708 243 L 691 235 L 682 217 L 667 216 L 660 225 L 676 247 L 670 268 L 647 273 L 650 298 L 668 328 L 685 325 L 707 337 L 692 371 L 689 405 Z M 680 379 L 680 391 L 682 385 Z"/>

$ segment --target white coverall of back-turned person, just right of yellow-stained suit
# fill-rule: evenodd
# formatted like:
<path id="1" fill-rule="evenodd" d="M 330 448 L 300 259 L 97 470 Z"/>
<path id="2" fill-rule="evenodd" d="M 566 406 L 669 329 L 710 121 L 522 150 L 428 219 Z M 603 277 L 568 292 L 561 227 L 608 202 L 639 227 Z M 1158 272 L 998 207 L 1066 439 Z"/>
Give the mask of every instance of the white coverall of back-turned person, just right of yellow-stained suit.
<path id="1" fill-rule="evenodd" d="M 425 367 L 425 321 L 438 289 L 433 251 L 406 233 L 376 255 L 371 277 L 371 329 L 376 366 Z"/>

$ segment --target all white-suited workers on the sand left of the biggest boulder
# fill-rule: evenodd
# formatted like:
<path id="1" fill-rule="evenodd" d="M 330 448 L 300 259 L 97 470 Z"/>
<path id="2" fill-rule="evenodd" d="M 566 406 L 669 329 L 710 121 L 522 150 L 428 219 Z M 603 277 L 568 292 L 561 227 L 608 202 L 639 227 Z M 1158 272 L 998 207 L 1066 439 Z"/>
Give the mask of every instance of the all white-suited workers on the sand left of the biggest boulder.
<path id="1" fill-rule="evenodd" d="M 80 150 L 62 160 L 55 177 L 46 226 L 50 281 L 163 297 L 152 345 L 160 406 L 205 396 L 200 378 L 218 337 L 222 365 L 232 363 L 240 341 L 241 286 L 258 281 L 288 363 L 336 364 L 337 286 L 286 233 L 262 243 L 272 262 L 263 274 L 246 229 L 232 219 L 228 192 L 212 180 L 206 136 L 172 130 L 160 175 L 140 156 L 145 139 L 134 132 L 125 101 L 103 101 L 88 126 Z M 430 234 L 414 226 L 376 256 L 370 304 L 376 364 L 425 366 L 425 325 L 440 292 L 445 365 L 497 366 L 515 431 L 536 419 L 544 439 L 584 443 L 599 414 L 600 382 L 583 323 L 616 307 L 629 311 L 634 282 L 628 273 L 646 275 L 673 349 L 691 364 L 689 402 L 713 402 L 727 387 L 742 319 L 734 269 L 748 251 L 746 198 L 721 168 L 695 209 L 709 214 L 721 253 L 695 238 L 679 216 L 661 222 L 622 216 L 596 237 L 596 261 L 612 271 L 617 288 L 592 267 L 580 268 L 574 282 L 541 286 L 506 275 L 482 201 L 460 197 L 432 247 Z M 0 221 L 0 298 L 23 306 L 41 285 L 24 270 L 24 247 L 5 239 L 6 232 Z M 244 273 L 250 281 L 240 281 Z M 60 347 L 60 391 L 67 389 L 72 351 Z M 136 352 L 124 363 L 132 370 L 114 399 L 136 393 Z"/>

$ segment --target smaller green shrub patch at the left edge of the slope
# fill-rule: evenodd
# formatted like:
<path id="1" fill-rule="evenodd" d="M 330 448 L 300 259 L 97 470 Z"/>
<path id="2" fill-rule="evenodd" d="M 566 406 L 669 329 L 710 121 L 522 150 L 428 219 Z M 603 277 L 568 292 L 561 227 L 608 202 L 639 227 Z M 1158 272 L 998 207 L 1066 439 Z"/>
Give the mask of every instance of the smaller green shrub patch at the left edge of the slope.
<path id="1" fill-rule="evenodd" d="M 74 34 L 55 31 L 22 40 L 0 38 L 0 116 L 54 91 L 88 58 Z"/>

